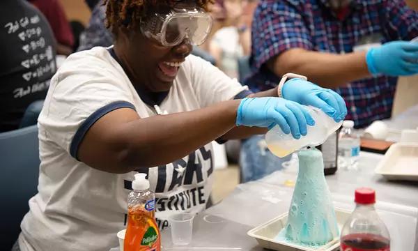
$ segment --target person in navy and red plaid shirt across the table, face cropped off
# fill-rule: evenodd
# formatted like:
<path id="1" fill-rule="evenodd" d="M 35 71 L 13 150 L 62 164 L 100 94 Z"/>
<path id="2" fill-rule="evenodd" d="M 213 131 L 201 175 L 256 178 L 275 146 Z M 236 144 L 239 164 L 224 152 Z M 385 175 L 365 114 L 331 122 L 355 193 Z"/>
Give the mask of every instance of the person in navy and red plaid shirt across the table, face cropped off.
<path id="1" fill-rule="evenodd" d="M 346 119 L 363 128 L 391 116 L 397 76 L 418 73 L 418 43 L 408 42 L 416 36 L 418 14 L 403 0 L 261 0 L 252 24 L 254 74 L 245 83 L 262 91 L 285 73 L 305 75 L 343 96 Z M 252 154 L 262 140 L 251 139 L 241 153 Z M 254 162 L 244 172 L 258 168 Z"/>

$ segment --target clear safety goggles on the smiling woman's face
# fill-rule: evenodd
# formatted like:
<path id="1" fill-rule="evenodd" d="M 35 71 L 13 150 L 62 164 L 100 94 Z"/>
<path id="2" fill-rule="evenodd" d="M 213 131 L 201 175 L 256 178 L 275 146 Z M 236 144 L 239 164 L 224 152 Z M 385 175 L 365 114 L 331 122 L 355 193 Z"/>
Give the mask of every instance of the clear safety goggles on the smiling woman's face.
<path id="1" fill-rule="evenodd" d="M 201 45 L 212 29 L 212 17 L 199 8 L 174 8 L 167 14 L 155 13 L 141 20 L 141 32 L 162 45 L 172 47 L 188 39 Z"/>

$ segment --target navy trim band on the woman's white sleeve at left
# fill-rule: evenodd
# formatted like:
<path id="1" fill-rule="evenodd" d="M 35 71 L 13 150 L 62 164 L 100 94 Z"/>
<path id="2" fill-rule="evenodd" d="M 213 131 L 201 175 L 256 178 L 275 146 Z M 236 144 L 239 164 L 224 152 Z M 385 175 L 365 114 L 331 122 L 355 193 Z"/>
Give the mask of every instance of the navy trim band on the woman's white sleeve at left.
<path id="1" fill-rule="evenodd" d="M 86 132 L 88 129 L 93 126 L 93 124 L 98 121 L 102 116 L 108 114 L 111 111 L 114 111 L 116 109 L 120 108 L 132 108 L 135 109 L 134 105 L 130 102 L 126 101 L 115 101 L 111 102 L 109 105 L 105 105 L 104 107 L 101 107 L 97 111 L 93 112 L 88 118 L 82 123 L 82 126 L 80 126 L 75 132 L 74 137 L 72 138 L 71 146 L 70 146 L 70 154 L 73 158 L 79 160 L 77 158 L 77 152 L 79 149 L 80 143 L 82 143 L 82 140 L 84 139 L 84 135 L 86 135 Z"/>

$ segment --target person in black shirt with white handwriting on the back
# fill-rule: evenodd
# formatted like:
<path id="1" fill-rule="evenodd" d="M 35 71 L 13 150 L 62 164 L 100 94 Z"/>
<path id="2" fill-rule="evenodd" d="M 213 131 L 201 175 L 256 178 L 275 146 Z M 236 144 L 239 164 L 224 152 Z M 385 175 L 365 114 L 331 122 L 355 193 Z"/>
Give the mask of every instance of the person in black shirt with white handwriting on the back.
<path id="1" fill-rule="evenodd" d="M 0 132 L 19 128 L 26 108 L 47 95 L 55 48 L 37 8 L 24 0 L 0 1 Z"/>

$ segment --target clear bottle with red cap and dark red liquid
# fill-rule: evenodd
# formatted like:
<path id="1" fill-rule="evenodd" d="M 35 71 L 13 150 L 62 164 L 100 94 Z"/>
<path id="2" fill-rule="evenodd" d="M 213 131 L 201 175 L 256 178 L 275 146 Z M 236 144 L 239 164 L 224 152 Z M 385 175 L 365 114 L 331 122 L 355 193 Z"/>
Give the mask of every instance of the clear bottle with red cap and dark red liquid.
<path id="1" fill-rule="evenodd" d="M 376 192 L 371 188 L 355 190 L 355 211 L 341 230 L 341 251 L 389 251 L 390 237 L 374 208 Z"/>

